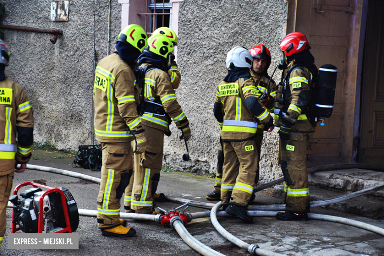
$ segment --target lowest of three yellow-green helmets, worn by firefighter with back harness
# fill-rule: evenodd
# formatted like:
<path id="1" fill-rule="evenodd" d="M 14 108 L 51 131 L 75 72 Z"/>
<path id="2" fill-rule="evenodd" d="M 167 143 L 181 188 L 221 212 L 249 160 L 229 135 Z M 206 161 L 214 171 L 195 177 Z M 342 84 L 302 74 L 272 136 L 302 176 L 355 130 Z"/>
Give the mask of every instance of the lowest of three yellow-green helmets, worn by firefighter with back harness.
<path id="1" fill-rule="evenodd" d="M 144 51 L 166 59 L 168 67 L 171 65 L 171 56 L 173 55 L 174 47 L 172 41 L 165 35 L 152 35 L 148 39 L 148 47 Z"/>

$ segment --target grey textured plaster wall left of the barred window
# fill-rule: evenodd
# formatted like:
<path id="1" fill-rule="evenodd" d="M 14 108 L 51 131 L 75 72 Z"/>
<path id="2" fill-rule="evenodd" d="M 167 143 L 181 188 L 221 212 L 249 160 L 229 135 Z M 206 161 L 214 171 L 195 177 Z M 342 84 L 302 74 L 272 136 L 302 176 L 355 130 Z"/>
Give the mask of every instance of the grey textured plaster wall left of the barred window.
<path id="1" fill-rule="evenodd" d="M 61 29 L 56 44 L 51 34 L 5 30 L 11 50 L 6 75 L 20 84 L 32 104 L 34 140 L 59 149 L 91 143 L 94 29 L 96 64 L 107 55 L 108 0 L 70 0 L 69 21 L 52 22 L 52 0 L 1 0 L 7 12 L 3 24 Z M 121 5 L 111 0 L 110 53 L 121 30 Z"/>

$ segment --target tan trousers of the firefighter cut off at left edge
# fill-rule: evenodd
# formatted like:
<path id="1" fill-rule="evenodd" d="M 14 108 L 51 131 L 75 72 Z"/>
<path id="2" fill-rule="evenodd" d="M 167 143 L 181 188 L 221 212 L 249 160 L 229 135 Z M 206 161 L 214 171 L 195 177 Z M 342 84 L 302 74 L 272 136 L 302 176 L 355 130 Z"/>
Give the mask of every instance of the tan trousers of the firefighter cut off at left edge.
<path id="1" fill-rule="evenodd" d="M 13 172 L 0 176 L 0 246 L 7 226 L 7 204 L 11 194 Z"/>

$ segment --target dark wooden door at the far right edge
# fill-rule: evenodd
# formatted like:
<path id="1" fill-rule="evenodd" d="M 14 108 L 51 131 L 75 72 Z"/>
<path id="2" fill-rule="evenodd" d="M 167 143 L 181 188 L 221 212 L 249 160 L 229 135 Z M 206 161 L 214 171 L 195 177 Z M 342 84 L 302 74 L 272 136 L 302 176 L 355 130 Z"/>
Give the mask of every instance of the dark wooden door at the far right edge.
<path id="1" fill-rule="evenodd" d="M 384 1 L 368 1 L 359 162 L 384 163 Z"/>

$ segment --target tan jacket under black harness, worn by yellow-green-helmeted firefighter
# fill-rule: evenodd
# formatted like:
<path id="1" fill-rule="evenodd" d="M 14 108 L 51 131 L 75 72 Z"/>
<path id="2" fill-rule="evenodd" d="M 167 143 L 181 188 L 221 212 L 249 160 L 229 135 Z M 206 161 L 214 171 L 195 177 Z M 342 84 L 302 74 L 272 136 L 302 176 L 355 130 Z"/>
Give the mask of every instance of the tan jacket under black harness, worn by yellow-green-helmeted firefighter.
<path id="1" fill-rule="evenodd" d="M 150 65 L 148 63 L 142 66 Z M 145 74 L 144 100 L 157 103 L 164 107 L 165 113 L 172 118 L 178 128 L 188 125 L 188 120 L 172 88 L 171 79 L 168 73 L 159 68 L 149 70 Z M 169 130 L 169 123 L 166 116 L 151 113 L 144 113 L 141 116 L 144 125 L 163 131 Z"/>

